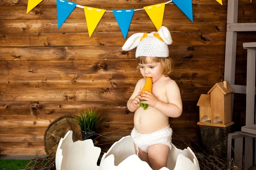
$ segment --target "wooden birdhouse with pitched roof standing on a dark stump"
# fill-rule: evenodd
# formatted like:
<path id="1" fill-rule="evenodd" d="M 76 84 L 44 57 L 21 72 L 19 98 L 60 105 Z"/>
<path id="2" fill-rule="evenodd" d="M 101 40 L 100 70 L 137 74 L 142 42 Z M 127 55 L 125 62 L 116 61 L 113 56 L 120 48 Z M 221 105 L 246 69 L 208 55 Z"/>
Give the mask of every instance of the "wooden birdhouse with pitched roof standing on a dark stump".
<path id="1" fill-rule="evenodd" d="M 201 94 L 197 105 L 199 106 L 200 122 L 198 125 L 227 127 L 232 122 L 233 89 L 227 81 L 216 83 L 207 94 Z"/>

